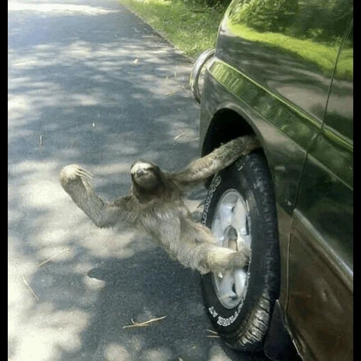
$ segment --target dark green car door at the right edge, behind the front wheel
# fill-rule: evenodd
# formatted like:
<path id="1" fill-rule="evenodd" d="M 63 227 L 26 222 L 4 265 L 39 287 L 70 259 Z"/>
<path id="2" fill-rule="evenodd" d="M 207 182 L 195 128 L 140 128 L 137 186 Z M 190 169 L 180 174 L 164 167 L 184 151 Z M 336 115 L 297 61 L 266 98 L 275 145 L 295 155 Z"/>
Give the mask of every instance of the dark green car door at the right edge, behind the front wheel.
<path id="1" fill-rule="evenodd" d="M 305 360 L 353 360 L 353 20 L 293 212 L 288 324 Z"/>

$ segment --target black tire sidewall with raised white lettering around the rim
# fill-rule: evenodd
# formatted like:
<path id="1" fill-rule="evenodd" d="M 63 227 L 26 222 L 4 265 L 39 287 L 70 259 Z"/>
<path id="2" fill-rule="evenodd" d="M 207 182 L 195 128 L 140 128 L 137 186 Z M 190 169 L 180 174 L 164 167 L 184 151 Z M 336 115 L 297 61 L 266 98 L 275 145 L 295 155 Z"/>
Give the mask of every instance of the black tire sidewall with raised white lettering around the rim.
<path id="1" fill-rule="evenodd" d="M 213 275 L 202 276 L 204 304 L 214 327 L 224 338 L 233 338 L 239 334 L 240 329 L 247 328 L 247 320 L 252 317 L 259 298 L 264 295 L 269 285 L 269 275 L 275 273 L 274 262 L 267 262 L 267 255 L 278 255 L 278 238 L 274 239 L 277 236 L 276 214 L 269 209 L 269 204 L 274 205 L 274 201 L 264 202 L 264 187 L 269 185 L 266 181 L 262 184 L 253 171 L 262 161 L 259 154 L 248 154 L 216 174 L 204 203 L 202 224 L 208 228 L 212 227 L 217 204 L 227 190 L 237 190 L 250 212 L 251 258 L 247 270 L 247 290 L 240 303 L 233 309 L 221 305 L 214 288 Z M 269 219 L 269 214 L 274 215 L 274 221 L 264 222 L 265 219 Z M 268 239 L 270 235 L 273 238 L 271 240 Z"/>

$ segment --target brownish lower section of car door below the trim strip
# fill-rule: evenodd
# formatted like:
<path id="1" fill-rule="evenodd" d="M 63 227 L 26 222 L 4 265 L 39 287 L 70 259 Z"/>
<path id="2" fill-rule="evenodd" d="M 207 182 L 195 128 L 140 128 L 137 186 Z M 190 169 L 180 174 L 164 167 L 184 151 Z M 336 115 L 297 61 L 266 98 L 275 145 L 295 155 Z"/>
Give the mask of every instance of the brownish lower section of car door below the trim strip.
<path id="1" fill-rule="evenodd" d="M 300 355 L 310 361 L 353 360 L 352 281 L 345 282 L 339 258 L 299 212 L 290 250 L 286 315 Z"/>

